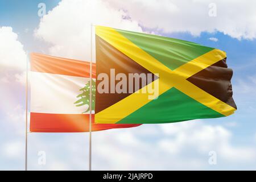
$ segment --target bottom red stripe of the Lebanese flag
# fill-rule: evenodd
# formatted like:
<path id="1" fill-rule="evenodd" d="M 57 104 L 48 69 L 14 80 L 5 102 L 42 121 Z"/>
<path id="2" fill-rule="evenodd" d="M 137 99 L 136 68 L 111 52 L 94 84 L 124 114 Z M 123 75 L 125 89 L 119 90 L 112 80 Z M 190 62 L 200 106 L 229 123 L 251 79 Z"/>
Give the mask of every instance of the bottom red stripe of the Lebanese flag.
<path id="1" fill-rule="evenodd" d="M 136 127 L 133 124 L 96 124 L 92 115 L 92 131 Z M 30 113 L 30 131 L 37 133 L 73 133 L 89 131 L 89 114 Z"/>

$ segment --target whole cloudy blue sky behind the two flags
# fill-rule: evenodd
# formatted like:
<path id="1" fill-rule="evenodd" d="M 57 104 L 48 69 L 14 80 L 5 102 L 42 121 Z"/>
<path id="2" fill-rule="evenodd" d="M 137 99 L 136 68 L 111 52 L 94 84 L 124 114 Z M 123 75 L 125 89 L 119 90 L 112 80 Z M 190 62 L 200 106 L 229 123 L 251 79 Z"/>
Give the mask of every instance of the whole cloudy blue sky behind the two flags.
<path id="1" fill-rule="evenodd" d="M 47 9 L 44 19 L 37 15 L 38 4 L 42 2 Z M 145 13 L 155 13 L 152 17 L 149 14 L 148 19 L 139 13 L 137 3 L 140 6 L 144 3 L 139 0 L 131 3 L 64 0 L 58 5 L 59 2 L 0 0 L 0 28 L 12 28 L 7 33 L 18 36 L 14 43 L 23 45 L 21 52 L 41 52 L 82 60 L 89 59 L 90 48 L 86 47 L 89 36 L 82 35 L 82 31 L 86 34 L 90 22 L 133 31 L 151 31 L 222 49 L 227 53 L 228 65 L 234 72 L 233 97 L 238 107 L 235 114 L 226 118 L 95 133 L 94 169 L 256 169 L 256 28 L 253 27 L 256 22 L 250 22 L 250 16 L 255 17 L 253 10 L 248 9 L 242 18 L 249 18 L 241 24 L 240 16 L 237 15 L 236 23 L 236 18 L 232 18 L 236 15 L 231 11 L 221 13 L 222 7 L 225 7 L 221 1 L 216 1 L 217 12 L 220 12 L 217 20 L 195 13 L 207 14 L 210 2 L 187 2 L 188 5 L 181 6 L 182 3 L 170 1 L 168 5 L 150 6 L 155 3 L 152 0 L 148 6 L 144 5 Z M 190 10 L 189 6 L 199 10 Z M 245 6 L 241 1 L 229 7 L 242 9 Z M 161 8 L 163 11 L 159 11 Z M 179 22 L 193 22 L 197 18 L 198 24 L 181 23 L 179 26 L 174 18 Z M 220 20 L 224 20 L 227 26 L 219 24 Z M 209 38 L 217 38 L 217 42 Z M 10 57 L 13 55 L 15 52 L 10 51 Z M 14 76 L 18 74 L 22 77 L 22 65 L 14 65 L 23 63 L 1 63 L 1 77 L 9 81 L 1 82 L 0 98 L 4 106 L 0 107 L 0 169 L 24 168 L 24 83 L 15 81 Z M 189 135 L 195 138 L 183 139 L 183 136 Z M 28 134 L 28 143 L 29 169 L 87 169 L 88 134 Z M 208 164 L 210 150 L 217 152 L 217 165 Z M 38 151 L 46 151 L 45 166 L 37 163 Z"/>

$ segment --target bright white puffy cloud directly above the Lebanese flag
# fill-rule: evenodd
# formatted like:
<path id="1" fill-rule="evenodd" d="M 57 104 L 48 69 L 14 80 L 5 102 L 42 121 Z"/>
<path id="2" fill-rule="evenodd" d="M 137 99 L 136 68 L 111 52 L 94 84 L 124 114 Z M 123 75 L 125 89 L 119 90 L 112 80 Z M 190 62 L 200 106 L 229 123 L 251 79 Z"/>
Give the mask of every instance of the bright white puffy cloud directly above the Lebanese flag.
<path id="1" fill-rule="evenodd" d="M 105 1 L 63 0 L 43 16 L 35 36 L 52 45 L 51 55 L 90 60 L 91 23 L 142 31 L 126 15 Z"/>

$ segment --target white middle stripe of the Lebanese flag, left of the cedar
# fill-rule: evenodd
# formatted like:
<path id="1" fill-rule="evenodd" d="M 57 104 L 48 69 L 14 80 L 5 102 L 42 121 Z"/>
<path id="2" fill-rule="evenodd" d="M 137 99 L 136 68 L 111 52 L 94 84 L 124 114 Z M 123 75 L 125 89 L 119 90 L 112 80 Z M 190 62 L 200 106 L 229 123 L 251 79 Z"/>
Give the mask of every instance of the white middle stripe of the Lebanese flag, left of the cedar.
<path id="1" fill-rule="evenodd" d="M 79 100 L 80 89 L 89 80 L 85 77 L 31 72 L 31 112 L 82 114 L 89 106 L 77 107 L 74 102 Z"/>

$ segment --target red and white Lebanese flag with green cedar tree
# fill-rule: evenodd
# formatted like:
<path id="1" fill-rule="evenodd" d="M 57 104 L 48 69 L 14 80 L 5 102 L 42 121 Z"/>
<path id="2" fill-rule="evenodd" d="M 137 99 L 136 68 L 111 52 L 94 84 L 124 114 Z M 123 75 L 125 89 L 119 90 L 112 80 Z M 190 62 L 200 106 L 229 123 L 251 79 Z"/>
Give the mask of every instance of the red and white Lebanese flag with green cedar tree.
<path id="1" fill-rule="evenodd" d="M 31 53 L 30 58 L 30 131 L 88 132 L 89 95 L 86 93 L 89 89 L 90 63 L 39 53 Z M 92 68 L 92 78 L 95 81 L 96 65 L 94 63 Z M 95 98 L 95 88 L 92 91 Z M 92 101 L 95 103 L 95 99 Z M 96 124 L 94 123 L 94 108 L 92 108 L 92 113 L 92 131 L 139 126 Z"/>

